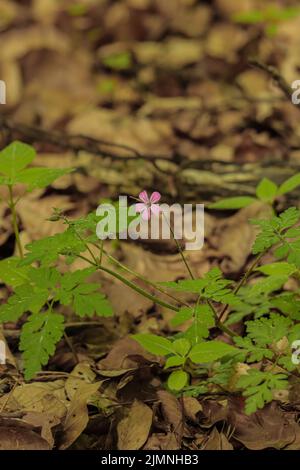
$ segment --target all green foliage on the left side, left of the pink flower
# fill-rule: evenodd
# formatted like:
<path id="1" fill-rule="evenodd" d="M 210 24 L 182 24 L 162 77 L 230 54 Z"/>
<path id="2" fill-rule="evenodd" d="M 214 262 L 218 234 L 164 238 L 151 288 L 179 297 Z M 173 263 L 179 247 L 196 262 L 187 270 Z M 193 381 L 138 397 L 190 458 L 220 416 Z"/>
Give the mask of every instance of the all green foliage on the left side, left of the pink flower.
<path id="1" fill-rule="evenodd" d="M 47 187 L 55 179 L 72 171 L 27 168 L 35 155 L 33 147 L 18 141 L 0 152 L 0 184 L 9 188 L 8 205 L 12 212 L 16 240 L 19 239 L 15 211 L 18 201 L 14 199 L 14 185 L 22 184 L 28 192 Z M 60 218 L 63 218 L 60 210 L 56 210 L 52 220 Z M 64 333 L 64 317 L 53 311 L 54 306 L 58 303 L 70 305 L 79 317 L 112 315 L 111 305 L 99 292 L 99 285 L 87 282 L 95 267 L 65 274 L 55 267 L 60 256 L 65 256 L 67 262 L 73 261 L 87 250 L 87 243 L 97 240 L 95 214 L 74 223 L 65 222 L 65 232 L 29 244 L 24 259 L 20 250 L 20 258 L 11 257 L 0 261 L 0 280 L 14 288 L 8 301 L 0 306 L 0 323 L 16 322 L 27 316 L 20 340 L 26 380 L 34 377 L 47 364 Z M 39 267 L 32 267 L 32 263 L 38 263 Z"/>

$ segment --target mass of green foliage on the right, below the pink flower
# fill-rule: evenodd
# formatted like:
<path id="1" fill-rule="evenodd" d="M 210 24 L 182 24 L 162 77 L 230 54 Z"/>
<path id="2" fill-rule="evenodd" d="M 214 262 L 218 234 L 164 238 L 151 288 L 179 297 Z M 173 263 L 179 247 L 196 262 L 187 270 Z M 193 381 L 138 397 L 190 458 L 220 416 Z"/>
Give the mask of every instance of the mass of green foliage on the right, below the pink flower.
<path id="1" fill-rule="evenodd" d="M 230 198 L 213 204 L 211 208 L 240 208 L 255 200 L 273 204 L 278 196 L 295 189 L 299 181 L 299 175 L 295 175 L 278 187 L 264 178 L 256 188 L 257 199 Z M 288 374 L 298 367 L 292 362 L 292 344 L 300 337 L 300 324 L 297 323 L 300 320 L 300 292 L 285 292 L 283 286 L 290 277 L 299 278 L 299 220 L 299 210 L 291 207 L 278 216 L 250 221 L 259 227 L 253 246 L 253 254 L 258 255 L 257 264 L 261 255 L 269 250 L 281 261 L 262 266 L 253 264 L 238 287 L 233 288 L 232 281 L 224 279 L 218 268 L 212 269 L 201 279 L 162 283 L 164 287 L 190 295 L 196 294 L 198 298 L 196 306 L 181 307 L 171 321 L 175 328 L 189 323 L 186 331 L 179 334 L 180 339 L 189 341 L 182 348 L 181 354 L 175 351 L 172 338 L 167 340 L 168 351 L 165 349 L 163 354 L 166 357 L 165 368 L 175 369 L 168 379 L 171 390 L 187 396 L 197 396 L 207 392 L 207 384 L 209 387 L 220 386 L 226 389 L 231 383 L 236 364 L 241 362 L 261 364 L 260 370 L 249 369 L 248 373 L 240 376 L 236 385 L 246 397 L 246 413 L 255 412 L 271 401 L 274 390 L 288 387 Z M 257 279 L 247 284 L 250 274 L 256 275 Z M 253 318 L 245 322 L 246 331 L 243 336 L 232 334 L 234 346 L 210 339 L 210 330 L 220 326 L 215 304 L 221 306 L 221 311 L 222 305 L 230 309 L 227 325 L 239 322 L 244 317 Z M 219 311 L 220 307 L 216 308 Z M 148 344 L 144 341 L 140 343 L 153 351 L 153 338 L 148 335 L 148 340 Z M 156 354 L 159 354 L 157 348 Z M 276 365 L 282 368 L 282 373 L 278 373 Z M 189 386 L 190 368 L 195 366 L 199 382 Z M 208 373 L 209 377 L 204 384 L 203 375 Z"/>

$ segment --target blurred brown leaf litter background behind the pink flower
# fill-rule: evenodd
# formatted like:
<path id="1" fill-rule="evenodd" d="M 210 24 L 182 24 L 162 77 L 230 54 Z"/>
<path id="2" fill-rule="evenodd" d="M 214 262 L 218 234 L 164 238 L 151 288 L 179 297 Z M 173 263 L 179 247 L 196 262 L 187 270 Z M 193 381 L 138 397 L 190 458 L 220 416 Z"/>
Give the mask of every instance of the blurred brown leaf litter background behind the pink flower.
<path id="1" fill-rule="evenodd" d="M 1 146 L 18 138 L 36 165 L 78 169 L 22 199 L 24 242 L 57 231 L 53 207 L 77 217 L 143 189 L 208 203 L 299 171 L 299 109 L 249 63 L 290 86 L 299 30 L 288 0 L 0 0 Z"/>

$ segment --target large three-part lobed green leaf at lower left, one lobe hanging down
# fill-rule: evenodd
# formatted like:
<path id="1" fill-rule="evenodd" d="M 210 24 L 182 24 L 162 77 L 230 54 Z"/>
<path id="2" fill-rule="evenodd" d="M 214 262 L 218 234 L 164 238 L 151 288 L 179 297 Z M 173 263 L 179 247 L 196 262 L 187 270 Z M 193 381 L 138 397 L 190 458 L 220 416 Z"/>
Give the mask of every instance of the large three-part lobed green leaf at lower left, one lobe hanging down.
<path id="1" fill-rule="evenodd" d="M 63 334 L 64 317 L 52 311 L 54 302 L 72 305 L 80 317 L 112 315 L 110 303 L 98 292 L 99 285 L 85 282 L 94 271 L 90 268 L 61 274 L 55 268 L 28 268 L 25 282 L 17 285 L 7 303 L 0 306 L 0 323 L 16 322 L 24 313 L 32 313 L 22 328 L 20 343 L 26 379 L 48 362 Z"/>

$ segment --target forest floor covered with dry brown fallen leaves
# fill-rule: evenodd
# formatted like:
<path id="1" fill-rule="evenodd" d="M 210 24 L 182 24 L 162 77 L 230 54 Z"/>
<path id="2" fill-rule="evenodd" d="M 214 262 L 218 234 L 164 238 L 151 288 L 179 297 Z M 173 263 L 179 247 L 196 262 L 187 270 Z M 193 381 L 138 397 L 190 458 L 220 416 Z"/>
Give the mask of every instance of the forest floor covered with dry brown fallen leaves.
<path id="1" fill-rule="evenodd" d="M 0 78 L 7 84 L 1 146 L 19 139 L 34 145 L 38 166 L 78 169 L 19 202 L 23 246 L 63 230 L 49 221 L 54 207 L 76 219 L 101 199 L 138 197 L 143 189 L 159 191 L 166 202 L 208 204 L 253 195 L 264 172 L 281 183 L 300 168 L 299 109 L 267 71 L 250 65 L 253 58 L 272 65 L 289 84 L 300 78 L 300 16 L 278 22 L 276 31 L 268 21 L 232 19 L 260 6 L 258 0 L 0 1 Z M 279 205 L 285 208 L 285 199 Z M 251 262 L 255 229 L 248 220 L 262 210 L 207 210 L 205 246 L 187 254 L 195 275 L 219 266 L 238 280 Z M 0 215 L 3 259 L 15 253 L 5 201 Z M 172 240 L 112 249 L 153 282 L 186 277 Z M 96 280 L 114 316 L 83 321 L 66 307 L 72 348 L 62 339 L 37 379 L 26 383 L 16 374 L 22 320 L 0 330 L 10 349 L 0 365 L 0 449 L 300 448 L 295 390 L 293 400 L 285 395 L 250 416 L 244 399 L 229 390 L 176 397 L 165 389 L 163 360 L 131 337 L 172 335 L 178 331 L 172 314 L 106 275 Z M 1 284 L 4 303 L 9 293 Z M 95 384 L 103 388 L 91 400 Z"/>

